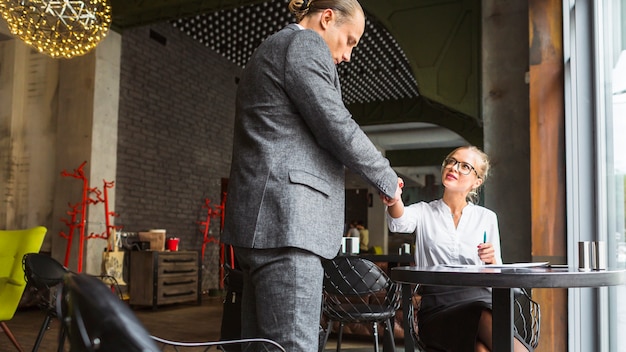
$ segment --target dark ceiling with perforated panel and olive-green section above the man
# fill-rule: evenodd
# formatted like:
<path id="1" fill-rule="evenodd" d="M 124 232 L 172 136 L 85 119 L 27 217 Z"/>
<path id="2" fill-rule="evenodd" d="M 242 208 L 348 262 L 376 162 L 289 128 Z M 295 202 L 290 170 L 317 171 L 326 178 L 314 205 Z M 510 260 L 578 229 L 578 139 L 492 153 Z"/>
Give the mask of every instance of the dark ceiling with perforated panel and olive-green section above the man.
<path id="1" fill-rule="evenodd" d="M 111 7 L 117 31 L 169 21 L 243 67 L 264 38 L 293 22 L 288 3 L 111 0 Z M 482 145 L 480 0 L 360 3 L 367 14 L 365 34 L 351 62 L 338 67 L 344 101 L 357 122 L 372 127 L 434 124 Z M 416 154 L 404 149 L 390 156 L 395 165 L 431 162 L 415 160 Z"/>

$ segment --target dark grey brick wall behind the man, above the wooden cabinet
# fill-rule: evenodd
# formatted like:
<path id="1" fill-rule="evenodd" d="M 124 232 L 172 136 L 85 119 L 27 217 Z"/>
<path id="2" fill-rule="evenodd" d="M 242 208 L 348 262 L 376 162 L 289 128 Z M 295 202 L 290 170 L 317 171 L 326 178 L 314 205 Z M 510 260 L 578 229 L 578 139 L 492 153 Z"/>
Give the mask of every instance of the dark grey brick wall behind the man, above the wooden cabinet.
<path id="1" fill-rule="evenodd" d="M 116 224 L 166 229 L 200 250 L 204 199 L 221 200 L 230 170 L 236 78 L 241 68 L 168 23 L 122 39 Z M 219 219 L 211 232 L 219 235 Z M 203 288 L 216 288 L 219 250 L 208 244 Z"/>

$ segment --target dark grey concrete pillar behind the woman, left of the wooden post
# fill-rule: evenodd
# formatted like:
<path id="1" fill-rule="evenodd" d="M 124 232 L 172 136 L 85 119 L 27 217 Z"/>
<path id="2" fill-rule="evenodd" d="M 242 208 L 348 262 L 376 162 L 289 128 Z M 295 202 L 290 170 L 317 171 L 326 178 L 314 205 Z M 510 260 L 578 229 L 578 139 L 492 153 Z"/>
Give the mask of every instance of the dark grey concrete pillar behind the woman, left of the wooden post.
<path id="1" fill-rule="evenodd" d="M 530 261 L 528 4 L 482 1 L 485 206 L 498 214 L 505 262 Z"/>

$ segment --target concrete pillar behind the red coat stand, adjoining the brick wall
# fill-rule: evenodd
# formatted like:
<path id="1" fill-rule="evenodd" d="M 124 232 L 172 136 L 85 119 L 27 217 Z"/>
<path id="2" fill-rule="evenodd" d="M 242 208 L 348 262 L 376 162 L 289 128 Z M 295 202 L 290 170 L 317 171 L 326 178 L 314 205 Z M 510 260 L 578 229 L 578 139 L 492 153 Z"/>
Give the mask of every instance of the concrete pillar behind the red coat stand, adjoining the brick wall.
<path id="1" fill-rule="evenodd" d="M 94 51 L 69 60 L 59 61 L 59 96 L 56 134 L 56 187 L 54 218 L 69 219 L 68 204 L 82 199 L 83 182 L 61 176 L 61 171 L 73 173 L 83 162 L 88 187 L 104 192 L 104 181 L 115 180 L 117 160 L 117 121 L 120 81 L 121 35 L 109 32 Z M 108 189 L 109 211 L 112 212 L 115 188 Z M 104 197 L 104 194 L 102 194 Z M 91 198 L 95 198 L 91 194 Z M 114 219 L 112 219 L 114 222 Z M 106 233 L 104 204 L 87 207 L 84 235 Z M 55 233 L 68 231 L 61 222 L 54 222 Z M 69 266 L 78 267 L 78 231 L 74 232 Z M 67 241 L 59 236 L 53 238 L 53 253 L 62 256 Z M 83 271 L 99 274 L 102 252 L 107 246 L 103 239 L 94 238 L 83 243 Z"/>

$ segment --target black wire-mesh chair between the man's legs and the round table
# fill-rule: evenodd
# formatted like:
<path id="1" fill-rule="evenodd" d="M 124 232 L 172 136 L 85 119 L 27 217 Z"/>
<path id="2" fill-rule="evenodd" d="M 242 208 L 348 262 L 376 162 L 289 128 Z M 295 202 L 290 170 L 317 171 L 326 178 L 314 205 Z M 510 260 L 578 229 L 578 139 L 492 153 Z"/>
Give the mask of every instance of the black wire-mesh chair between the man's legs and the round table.
<path id="1" fill-rule="evenodd" d="M 322 311 L 327 319 L 324 350 L 333 323 L 339 322 L 337 351 L 341 351 L 346 323 L 372 324 L 375 351 L 378 352 L 378 324 L 385 324 L 384 350 L 394 351 L 393 319 L 400 307 L 400 286 L 373 262 L 358 256 L 338 256 L 323 262 Z"/>

